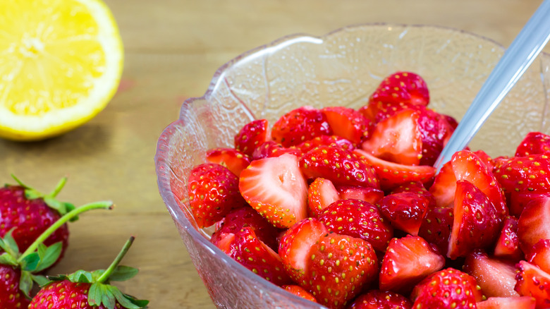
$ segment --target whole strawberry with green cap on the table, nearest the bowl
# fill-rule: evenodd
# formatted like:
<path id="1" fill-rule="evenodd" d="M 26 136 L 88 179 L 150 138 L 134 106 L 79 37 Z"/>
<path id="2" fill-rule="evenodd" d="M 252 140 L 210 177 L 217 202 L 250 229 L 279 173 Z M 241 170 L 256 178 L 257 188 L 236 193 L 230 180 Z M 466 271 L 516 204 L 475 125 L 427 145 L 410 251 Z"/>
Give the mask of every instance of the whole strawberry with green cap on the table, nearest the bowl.
<path id="1" fill-rule="evenodd" d="M 109 284 L 109 281 L 128 280 L 138 273 L 136 268 L 118 265 L 130 248 L 133 239 L 130 237 L 121 253 L 105 270 L 95 272 L 78 270 L 74 274 L 48 277 L 51 281 L 42 286 L 42 289 L 32 298 L 29 308 L 145 308 L 149 301 L 138 300 Z"/>

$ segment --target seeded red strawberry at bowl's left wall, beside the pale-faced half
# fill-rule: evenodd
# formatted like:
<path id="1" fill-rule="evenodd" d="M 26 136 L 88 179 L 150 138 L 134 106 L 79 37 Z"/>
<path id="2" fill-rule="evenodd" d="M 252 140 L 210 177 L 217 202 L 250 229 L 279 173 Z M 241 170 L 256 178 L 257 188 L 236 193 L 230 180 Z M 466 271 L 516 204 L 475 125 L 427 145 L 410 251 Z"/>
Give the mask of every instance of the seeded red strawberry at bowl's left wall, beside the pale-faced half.
<path id="1" fill-rule="evenodd" d="M 211 226 L 231 209 L 245 205 L 238 191 L 238 177 L 214 163 L 197 165 L 189 175 L 189 203 L 199 228 Z"/>

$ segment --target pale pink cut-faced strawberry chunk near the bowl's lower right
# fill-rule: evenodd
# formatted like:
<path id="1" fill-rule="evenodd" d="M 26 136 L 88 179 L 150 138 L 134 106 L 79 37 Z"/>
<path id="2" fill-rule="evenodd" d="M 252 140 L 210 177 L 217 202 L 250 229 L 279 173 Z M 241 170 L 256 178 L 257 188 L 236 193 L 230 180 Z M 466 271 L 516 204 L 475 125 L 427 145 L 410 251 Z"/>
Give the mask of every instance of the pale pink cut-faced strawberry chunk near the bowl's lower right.
<path id="1" fill-rule="evenodd" d="M 481 251 L 470 253 L 464 261 L 464 272 L 475 278 L 487 297 L 519 296 L 514 291 L 515 266 L 513 262 L 489 257 Z"/>

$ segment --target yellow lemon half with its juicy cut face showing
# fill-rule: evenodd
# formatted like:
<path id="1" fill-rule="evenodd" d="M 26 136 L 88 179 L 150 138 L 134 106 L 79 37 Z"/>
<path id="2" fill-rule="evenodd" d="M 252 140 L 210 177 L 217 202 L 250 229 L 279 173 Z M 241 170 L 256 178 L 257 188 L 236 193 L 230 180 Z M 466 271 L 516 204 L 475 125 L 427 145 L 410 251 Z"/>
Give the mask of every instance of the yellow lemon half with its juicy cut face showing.
<path id="1" fill-rule="evenodd" d="M 123 45 L 101 0 L 0 1 L 0 137 L 76 128 L 113 97 Z"/>

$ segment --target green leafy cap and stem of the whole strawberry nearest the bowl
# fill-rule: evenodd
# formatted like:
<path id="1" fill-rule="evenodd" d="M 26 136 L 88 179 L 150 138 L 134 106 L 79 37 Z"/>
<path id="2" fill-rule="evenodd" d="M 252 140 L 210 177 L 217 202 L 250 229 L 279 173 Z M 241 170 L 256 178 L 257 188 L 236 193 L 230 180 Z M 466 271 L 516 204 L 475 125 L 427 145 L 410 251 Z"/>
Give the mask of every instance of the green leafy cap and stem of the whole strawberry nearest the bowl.
<path id="1" fill-rule="evenodd" d="M 137 268 L 119 265 L 124 255 L 128 253 L 134 239 L 134 236 L 128 238 L 121 252 L 116 255 L 114 261 L 111 262 L 111 265 L 107 269 L 97 269 L 93 272 L 78 270 L 73 272 L 73 274 L 48 276 L 49 282 L 68 280 L 74 283 L 90 284 L 87 298 L 88 304 L 92 306 L 103 305 L 107 309 L 114 309 L 118 302 L 123 308 L 146 308 L 149 301 L 130 296 L 123 293 L 118 287 L 109 284 L 111 281 L 126 281 L 138 274 L 139 269 Z"/>

